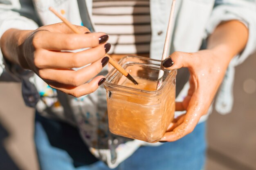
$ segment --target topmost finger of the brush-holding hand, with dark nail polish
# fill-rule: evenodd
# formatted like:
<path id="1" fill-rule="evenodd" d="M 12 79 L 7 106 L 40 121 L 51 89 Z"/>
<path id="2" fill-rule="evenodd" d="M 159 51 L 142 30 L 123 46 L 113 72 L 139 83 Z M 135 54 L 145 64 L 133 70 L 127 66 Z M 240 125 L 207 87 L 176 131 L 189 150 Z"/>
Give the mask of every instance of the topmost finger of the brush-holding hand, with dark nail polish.
<path id="1" fill-rule="evenodd" d="M 35 48 L 47 50 L 76 50 L 81 48 L 93 48 L 108 40 L 105 33 L 90 34 L 63 34 L 50 31 L 38 31 L 34 34 L 33 45 Z"/>

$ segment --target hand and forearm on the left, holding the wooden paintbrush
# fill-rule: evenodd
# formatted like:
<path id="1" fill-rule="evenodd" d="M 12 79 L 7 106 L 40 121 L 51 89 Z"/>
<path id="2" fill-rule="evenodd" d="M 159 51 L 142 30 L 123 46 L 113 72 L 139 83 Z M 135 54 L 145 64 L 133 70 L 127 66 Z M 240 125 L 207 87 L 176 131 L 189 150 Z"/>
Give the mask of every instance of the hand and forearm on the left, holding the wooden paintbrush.
<path id="1" fill-rule="evenodd" d="M 105 54 L 111 46 L 106 43 L 105 33 L 90 33 L 83 26 L 77 28 L 84 34 L 74 34 L 63 23 L 42 26 L 35 31 L 10 29 L 1 38 L 1 49 L 9 61 L 32 70 L 50 87 L 75 97 L 83 96 L 94 92 L 105 81 L 104 76 L 97 76 L 86 83 L 108 63 Z M 81 48 L 90 49 L 63 52 Z M 85 65 L 88 66 L 72 70 Z"/>

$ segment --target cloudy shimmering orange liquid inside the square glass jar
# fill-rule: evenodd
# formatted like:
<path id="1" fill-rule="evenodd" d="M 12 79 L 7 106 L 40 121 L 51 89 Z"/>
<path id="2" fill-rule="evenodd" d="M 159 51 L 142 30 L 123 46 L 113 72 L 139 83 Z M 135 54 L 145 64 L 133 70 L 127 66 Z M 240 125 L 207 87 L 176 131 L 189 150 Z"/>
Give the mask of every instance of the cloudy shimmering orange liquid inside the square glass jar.
<path id="1" fill-rule="evenodd" d="M 157 82 L 135 78 L 139 85 L 126 80 L 121 85 L 155 91 Z M 154 96 L 154 95 L 153 95 Z M 153 99 L 152 99 L 153 98 Z M 110 131 L 117 135 L 157 142 L 173 120 L 175 111 L 175 85 L 173 83 L 154 97 L 133 96 L 113 92 L 108 98 Z"/>

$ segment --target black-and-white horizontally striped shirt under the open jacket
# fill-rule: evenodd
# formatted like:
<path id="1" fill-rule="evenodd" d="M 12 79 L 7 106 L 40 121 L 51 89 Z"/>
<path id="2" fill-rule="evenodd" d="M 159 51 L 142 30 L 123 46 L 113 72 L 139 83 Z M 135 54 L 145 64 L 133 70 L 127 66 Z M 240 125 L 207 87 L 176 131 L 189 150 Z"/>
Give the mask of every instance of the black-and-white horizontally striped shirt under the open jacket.
<path id="1" fill-rule="evenodd" d="M 149 53 L 149 0 L 93 0 L 92 19 L 97 32 L 110 35 L 110 54 Z"/>

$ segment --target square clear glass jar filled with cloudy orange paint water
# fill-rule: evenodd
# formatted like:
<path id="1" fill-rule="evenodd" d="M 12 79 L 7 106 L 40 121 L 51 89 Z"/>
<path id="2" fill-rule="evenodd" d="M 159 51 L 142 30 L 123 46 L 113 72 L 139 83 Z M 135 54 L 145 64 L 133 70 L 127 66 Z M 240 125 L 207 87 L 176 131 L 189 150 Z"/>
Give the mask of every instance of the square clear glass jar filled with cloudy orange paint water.
<path id="1" fill-rule="evenodd" d="M 139 85 L 132 84 L 116 69 L 108 73 L 104 87 L 107 91 L 110 132 L 146 142 L 158 142 L 174 117 L 177 70 L 164 70 L 164 82 L 156 90 L 161 61 L 127 56 L 119 64 L 139 85 L 147 81 L 151 84 L 138 89 Z M 129 83 L 132 87 L 125 85 Z"/>

